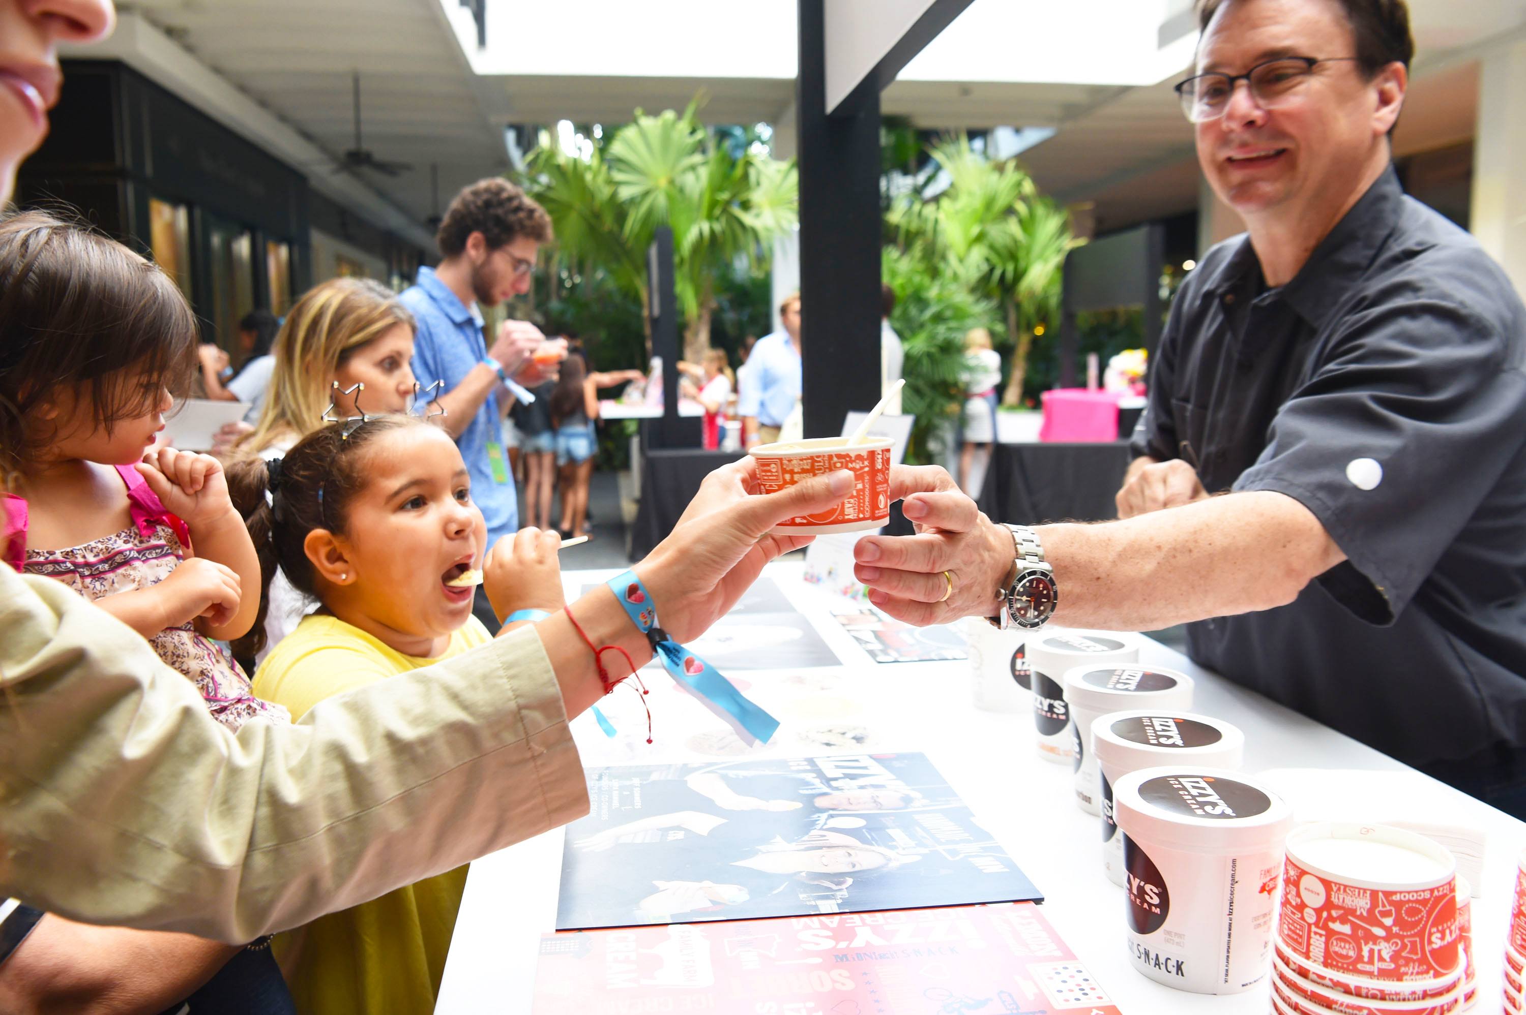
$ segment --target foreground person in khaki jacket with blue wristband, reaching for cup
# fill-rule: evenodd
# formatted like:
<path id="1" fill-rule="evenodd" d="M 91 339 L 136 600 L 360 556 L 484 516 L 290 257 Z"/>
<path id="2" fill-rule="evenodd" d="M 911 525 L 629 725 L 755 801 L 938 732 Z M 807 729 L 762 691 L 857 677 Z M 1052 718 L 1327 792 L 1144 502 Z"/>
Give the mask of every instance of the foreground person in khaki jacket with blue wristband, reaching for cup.
<path id="1" fill-rule="evenodd" d="M 47 133 L 60 43 L 98 41 L 113 23 L 110 0 L 0 0 L 0 62 L 27 69 L 32 88 L 0 102 L 0 201 Z M 9 280 L 0 277 L 0 299 Z M 751 462 L 711 472 L 636 564 L 664 628 L 679 642 L 700 636 L 765 564 L 804 544 L 769 535 L 778 521 L 852 488 L 839 471 L 763 495 Z M 0 515 L 9 518 L 3 500 Z M 0 558 L 8 546 L 0 527 Z M 627 649 L 636 666 L 652 658 L 607 587 L 572 605 L 600 643 Z M 247 722 L 237 735 L 142 637 L 60 582 L 0 564 L 0 896 L 34 907 L 246 942 L 588 812 L 568 719 L 603 696 L 604 680 L 563 614 L 319 703 L 301 724 Z M 64 921 L 21 919 L 32 930 L 15 943 L 20 907 L 0 911 L 0 991 L 43 978 L 20 1003 L 0 994 L 3 1010 L 78 1006 L 107 989 L 151 1012 L 145 981 L 191 975 L 111 951 L 101 936 L 67 936 Z M 60 954 L 89 956 L 79 994 L 53 977 L 47 963 Z"/>

